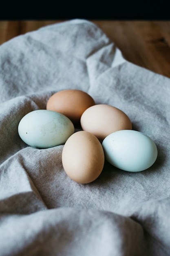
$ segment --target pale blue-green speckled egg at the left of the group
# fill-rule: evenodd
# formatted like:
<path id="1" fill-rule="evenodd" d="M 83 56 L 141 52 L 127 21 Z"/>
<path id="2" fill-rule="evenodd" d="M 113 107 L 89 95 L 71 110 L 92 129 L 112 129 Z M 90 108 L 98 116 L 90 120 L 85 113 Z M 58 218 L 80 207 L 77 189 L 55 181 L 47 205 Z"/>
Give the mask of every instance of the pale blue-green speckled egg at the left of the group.
<path id="1" fill-rule="evenodd" d="M 35 148 L 64 144 L 74 131 L 74 125 L 68 117 L 51 110 L 29 112 L 18 124 L 21 139 Z"/>

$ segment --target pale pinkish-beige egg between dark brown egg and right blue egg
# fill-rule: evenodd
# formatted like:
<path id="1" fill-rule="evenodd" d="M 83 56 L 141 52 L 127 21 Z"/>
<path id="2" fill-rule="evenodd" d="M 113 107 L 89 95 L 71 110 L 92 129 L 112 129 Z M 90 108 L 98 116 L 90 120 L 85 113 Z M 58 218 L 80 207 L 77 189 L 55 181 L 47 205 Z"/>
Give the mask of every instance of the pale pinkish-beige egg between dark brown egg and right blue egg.
<path id="1" fill-rule="evenodd" d="M 131 130 L 129 117 L 119 108 L 97 104 L 84 111 L 80 119 L 83 130 L 93 133 L 99 141 L 117 130 Z"/>

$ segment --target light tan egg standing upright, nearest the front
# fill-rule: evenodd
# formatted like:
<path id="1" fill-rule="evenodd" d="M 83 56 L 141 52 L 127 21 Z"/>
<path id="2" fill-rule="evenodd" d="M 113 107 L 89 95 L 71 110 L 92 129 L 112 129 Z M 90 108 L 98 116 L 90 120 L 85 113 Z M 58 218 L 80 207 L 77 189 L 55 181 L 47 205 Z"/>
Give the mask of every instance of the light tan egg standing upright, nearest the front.
<path id="1" fill-rule="evenodd" d="M 75 182 L 93 182 L 104 167 L 104 150 L 101 143 L 90 132 L 75 132 L 64 144 L 62 164 L 66 174 Z"/>

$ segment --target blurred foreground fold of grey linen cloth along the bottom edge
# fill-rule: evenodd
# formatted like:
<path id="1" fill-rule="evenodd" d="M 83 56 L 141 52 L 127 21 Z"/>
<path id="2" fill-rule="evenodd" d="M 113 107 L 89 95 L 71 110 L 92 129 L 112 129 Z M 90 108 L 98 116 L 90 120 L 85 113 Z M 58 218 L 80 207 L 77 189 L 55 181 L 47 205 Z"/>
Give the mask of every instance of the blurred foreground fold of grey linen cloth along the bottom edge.
<path id="1" fill-rule="evenodd" d="M 60 208 L 1 218 L 0 235 L 6 238 L 1 255 L 9 255 L 11 250 L 18 256 L 140 256 L 144 252 L 141 226 L 114 213 Z"/>

